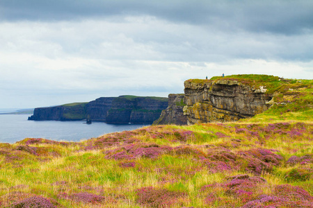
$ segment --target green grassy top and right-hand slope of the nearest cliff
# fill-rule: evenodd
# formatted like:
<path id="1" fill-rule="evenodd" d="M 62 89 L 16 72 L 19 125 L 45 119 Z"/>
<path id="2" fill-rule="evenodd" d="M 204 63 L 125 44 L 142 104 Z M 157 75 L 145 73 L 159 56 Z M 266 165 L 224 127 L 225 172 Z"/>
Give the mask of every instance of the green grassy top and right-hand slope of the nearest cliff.
<path id="1" fill-rule="evenodd" d="M 272 107 L 239 122 L 278 122 L 278 121 L 313 121 L 313 80 L 284 79 L 278 76 L 241 74 L 232 76 L 214 76 L 209 80 L 192 79 L 186 82 L 202 84 L 218 80 L 236 80 L 243 85 L 258 89 L 263 86 L 266 94 L 273 96 Z"/>

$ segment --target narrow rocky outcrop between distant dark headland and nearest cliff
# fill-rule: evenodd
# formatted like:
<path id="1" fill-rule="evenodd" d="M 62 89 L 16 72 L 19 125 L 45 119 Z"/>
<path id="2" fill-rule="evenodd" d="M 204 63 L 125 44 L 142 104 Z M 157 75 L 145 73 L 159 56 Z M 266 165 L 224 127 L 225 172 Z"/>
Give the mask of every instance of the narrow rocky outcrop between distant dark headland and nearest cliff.
<path id="1" fill-rule="evenodd" d="M 187 116 L 184 115 L 183 108 L 184 94 L 169 94 L 168 95 L 168 107 L 161 112 L 159 119 L 153 122 L 153 125 L 186 125 Z"/>

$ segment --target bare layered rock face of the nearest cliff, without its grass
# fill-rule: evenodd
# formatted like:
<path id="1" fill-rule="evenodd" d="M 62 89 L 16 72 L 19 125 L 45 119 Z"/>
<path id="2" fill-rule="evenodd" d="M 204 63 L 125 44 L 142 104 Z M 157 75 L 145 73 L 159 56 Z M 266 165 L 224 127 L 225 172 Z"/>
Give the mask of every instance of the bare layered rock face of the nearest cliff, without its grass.
<path id="1" fill-rule="evenodd" d="M 184 114 L 188 124 L 237 121 L 267 110 L 271 94 L 236 80 L 186 80 Z"/>

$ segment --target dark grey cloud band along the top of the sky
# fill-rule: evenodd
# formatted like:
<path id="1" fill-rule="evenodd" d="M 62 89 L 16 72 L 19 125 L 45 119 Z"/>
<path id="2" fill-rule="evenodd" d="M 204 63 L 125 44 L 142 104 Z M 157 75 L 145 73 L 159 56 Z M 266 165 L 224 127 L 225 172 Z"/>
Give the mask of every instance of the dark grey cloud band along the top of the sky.
<path id="1" fill-rule="evenodd" d="M 225 31 L 296 34 L 312 31 L 313 1 L 3 0 L 2 21 L 59 21 L 150 15 Z"/>

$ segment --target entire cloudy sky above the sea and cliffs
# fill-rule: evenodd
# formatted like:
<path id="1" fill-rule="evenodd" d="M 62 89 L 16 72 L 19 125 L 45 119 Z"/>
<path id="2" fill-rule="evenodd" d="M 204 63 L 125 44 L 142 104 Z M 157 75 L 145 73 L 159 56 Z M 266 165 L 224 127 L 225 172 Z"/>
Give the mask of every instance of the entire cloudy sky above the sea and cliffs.
<path id="1" fill-rule="evenodd" d="M 239 73 L 313 78 L 311 0 L 0 0 L 0 108 L 168 96 Z"/>

